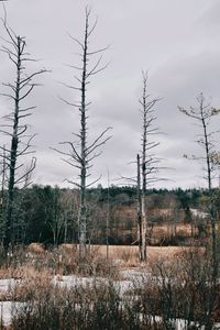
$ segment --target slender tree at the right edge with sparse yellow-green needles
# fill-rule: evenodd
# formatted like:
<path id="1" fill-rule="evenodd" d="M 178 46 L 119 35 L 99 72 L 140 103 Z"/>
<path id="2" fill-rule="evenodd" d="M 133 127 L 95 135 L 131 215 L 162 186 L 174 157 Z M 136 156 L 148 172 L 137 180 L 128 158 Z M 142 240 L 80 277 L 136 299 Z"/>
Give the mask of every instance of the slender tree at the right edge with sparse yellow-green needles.
<path id="1" fill-rule="evenodd" d="M 209 101 L 206 101 L 202 92 L 196 98 L 197 107 L 190 107 L 189 109 L 184 109 L 178 107 L 179 111 L 185 113 L 187 117 L 195 119 L 199 122 L 201 133 L 198 135 L 196 142 L 202 147 L 202 155 L 193 155 L 190 158 L 201 161 L 202 169 L 205 170 L 205 179 L 207 180 L 208 191 L 209 191 L 209 204 L 208 211 L 211 222 L 211 268 L 212 268 L 212 292 L 210 296 L 210 308 L 207 316 L 207 326 L 210 326 L 211 312 L 213 309 L 213 304 L 216 299 L 216 285 L 218 277 L 218 258 L 217 258 L 217 231 L 216 231 L 216 218 L 217 212 L 213 202 L 213 189 L 212 189 L 212 178 L 213 178 L 213 154 L 215 154 L 215 140 L 213 131 L 210 131 L 210 120 L 219 114 L 220 110 L 211 107 Z M 204 166 L 205 164 L 205 166 Z"/>

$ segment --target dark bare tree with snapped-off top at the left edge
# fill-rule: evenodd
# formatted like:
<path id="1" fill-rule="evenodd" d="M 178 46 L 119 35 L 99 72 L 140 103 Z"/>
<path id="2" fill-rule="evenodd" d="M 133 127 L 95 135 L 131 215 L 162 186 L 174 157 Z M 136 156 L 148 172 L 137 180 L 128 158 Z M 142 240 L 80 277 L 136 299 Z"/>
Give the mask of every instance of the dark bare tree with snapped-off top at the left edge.
<path id="1" fill-rule="evenodd" d="M 45 69 L 36 70 L 30 74 L 26 69 L 26 63 L 34 62 L 26 52 L 25 37 L 16 35 L 7 23 L 7 14 L 2 20 L 6 31 L 6 38 L 1 37 L 4 44 L 1 51 L 6 53 L 9 61 L 14 66 L 15 77 L 11 82 L 6 82 L 3 86 L 9 90 L 1 94 L 9 98 L 13 103 L 12 112 L 4 117 L 7 123 L 1 125 L 0 132 L 10 138 L 11 144 L 9 147 L 0 148 L 4 152 L 3 158 L 9 169 L 8 174 L 8 197 L 6 209 L 6 233 L 3 245 L 8 250 L 10 244 L 14 244 L 13 240 L 13 202 L 14 187 L 20 184 L 26 184 L 28 178 L 35 168 L 35 157 L 32 157 L 30 166 L 25 168 L 22 162 L 18 161 L 23 156 L 33 153 L 32 140 L 33 134 L 28 133 L 28 124 L 25 120 L 32 114 L 35 107 L 26 106 L 26 99 L 37 84 L 33 82 L 33 78 L 45 73 Z M 21 173 L 23 170 L 23 173 Z"/>

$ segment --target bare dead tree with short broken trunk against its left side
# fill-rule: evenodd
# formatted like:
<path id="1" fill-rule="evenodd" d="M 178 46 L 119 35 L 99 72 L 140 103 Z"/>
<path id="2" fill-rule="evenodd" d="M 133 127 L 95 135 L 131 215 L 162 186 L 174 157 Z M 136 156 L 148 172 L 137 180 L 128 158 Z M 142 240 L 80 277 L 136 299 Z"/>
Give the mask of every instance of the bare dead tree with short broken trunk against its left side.
<path id="1" fill-rule="evenodd" d="M 138 155 L 138 190 L 139 190 L 139 240 L 140 240 L 140 260 L 146 261 L 146 228 L 147 228 L 147 215 L 146 215 L 146 189 L 147 185 L 158 178 L 155 177 L 157 173 L 156 163 L 158 160 L 152 153 L 152 150 L 158 145 L 158 143 L 151 140 L 151 135 L 157 132 L 157 128 L 153 127 L 153 122 L 156 120 L 154 116 L 153 107 L 158 99 L 150 99 L 147 95 L 147 74 L 143 75 L 143 91 L 142 98 L 139 100 L 141 105 L 142 114 L 142 150 L 141 157 Z M 140 163 L 140 164 L 139 164 Z M 141 168 L 141 169 L 140 169 Z"/>

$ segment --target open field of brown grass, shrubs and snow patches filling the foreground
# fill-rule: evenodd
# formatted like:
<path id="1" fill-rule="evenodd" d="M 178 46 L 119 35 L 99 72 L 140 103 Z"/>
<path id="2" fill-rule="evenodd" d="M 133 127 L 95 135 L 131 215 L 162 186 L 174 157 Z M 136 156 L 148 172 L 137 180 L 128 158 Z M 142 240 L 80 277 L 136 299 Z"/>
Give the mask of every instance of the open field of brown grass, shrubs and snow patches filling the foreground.
<path id="1" fill-rule="evenodd" d="M 80 260 L 76 244 L 18 246 L 0 267 L 0 328 L 186 330 L 208 322 L 205 296 L 220 321 L 202 248 L 148 246 L 142 264 L 139 246 L 108 249 L 107 258 L 106 245 L 90 245 Z"/>

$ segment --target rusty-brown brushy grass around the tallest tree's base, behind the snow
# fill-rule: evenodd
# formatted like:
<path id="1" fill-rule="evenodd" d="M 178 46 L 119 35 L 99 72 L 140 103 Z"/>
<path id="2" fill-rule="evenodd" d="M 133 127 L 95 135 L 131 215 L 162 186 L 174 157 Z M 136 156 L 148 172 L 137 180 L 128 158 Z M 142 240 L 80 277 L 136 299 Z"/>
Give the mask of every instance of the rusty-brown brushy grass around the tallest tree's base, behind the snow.
<path id="1" fill-rule="evenodd" d="M 2 258 L 1 258 L 2 256 Z M 40 244 L 15 246 L 7 257 L 0 250 L 0 278 L 22 278 L 29 270 L 47 272 L 53 275 L 84 275 L 119 277 L 113 258 L 107 258 L 97 246 L 90 246 L 84 260 L 76 245 L 64 244 L 44 250 Z"/>

